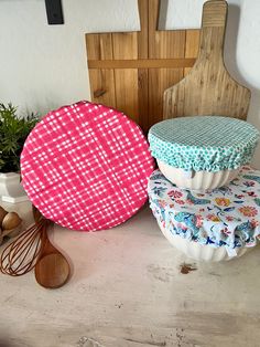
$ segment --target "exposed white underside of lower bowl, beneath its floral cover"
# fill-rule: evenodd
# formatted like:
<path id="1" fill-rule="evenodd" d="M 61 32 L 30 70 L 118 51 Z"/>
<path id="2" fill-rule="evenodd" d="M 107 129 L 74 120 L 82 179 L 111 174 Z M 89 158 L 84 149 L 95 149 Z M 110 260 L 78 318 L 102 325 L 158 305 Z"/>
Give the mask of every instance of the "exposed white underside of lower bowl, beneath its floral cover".
<path id="1" fill-rule="evenodd" d="M 237 259 L 251 250 L 251 248 L 239 248 L 236 251 L 237 255 L 234 254 L 234 256 L 229 256 L 225 246 L 213 248 L 208 244 L 203 245 L 194 241 L 185 240 L 180 235 L 174 235 L 162 225 L 159 227 L 164 236 L 170 241 L 170 243 L 172 243 L 172 245 L 174 245 L 178 251 L 185 253 L 188 257 L 196 261 L 228 261 L 231 259 Z"/>

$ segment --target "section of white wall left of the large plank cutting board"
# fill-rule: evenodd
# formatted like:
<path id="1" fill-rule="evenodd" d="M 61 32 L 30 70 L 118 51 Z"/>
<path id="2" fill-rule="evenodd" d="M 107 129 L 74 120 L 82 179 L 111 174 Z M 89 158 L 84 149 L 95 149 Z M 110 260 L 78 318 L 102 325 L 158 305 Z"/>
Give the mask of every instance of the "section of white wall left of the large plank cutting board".
<path id="1" fill-rule="evenodd" d="M 44 0 L 0 0 L 0 101 L 44 114 L 89 98 L 84 34 L 139 27 L 136 1 L 63 0 L 63 10 L 65 24 L 48 25 Z"/>

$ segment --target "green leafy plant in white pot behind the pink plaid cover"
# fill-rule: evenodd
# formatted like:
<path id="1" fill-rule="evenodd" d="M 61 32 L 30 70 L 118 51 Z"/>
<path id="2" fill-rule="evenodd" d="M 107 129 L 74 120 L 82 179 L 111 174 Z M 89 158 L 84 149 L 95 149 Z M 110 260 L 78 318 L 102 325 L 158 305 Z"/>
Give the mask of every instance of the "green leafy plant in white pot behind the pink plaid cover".
<path id="1" fill-rule="evenodd" d="M 20 155 L 23 144 L 39 122 L 35 114 L 19 117 L 11 103 L 0 104 L 0 200 L 20 202 L 26 194 L 20 183 Z"/>

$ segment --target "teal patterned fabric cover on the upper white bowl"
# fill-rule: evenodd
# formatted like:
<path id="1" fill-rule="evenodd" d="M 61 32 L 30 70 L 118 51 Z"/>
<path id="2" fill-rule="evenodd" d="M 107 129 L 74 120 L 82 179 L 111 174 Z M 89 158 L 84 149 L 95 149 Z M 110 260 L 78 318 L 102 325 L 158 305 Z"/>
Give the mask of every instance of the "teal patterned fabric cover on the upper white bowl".
<path id="1" fill-rule="evenodd" d="M 259 135 L 245 120 L 196 116 L 160 122 L 148 138 L 152 156 L 172 167 L 217 172 L 249 164 Z"/>

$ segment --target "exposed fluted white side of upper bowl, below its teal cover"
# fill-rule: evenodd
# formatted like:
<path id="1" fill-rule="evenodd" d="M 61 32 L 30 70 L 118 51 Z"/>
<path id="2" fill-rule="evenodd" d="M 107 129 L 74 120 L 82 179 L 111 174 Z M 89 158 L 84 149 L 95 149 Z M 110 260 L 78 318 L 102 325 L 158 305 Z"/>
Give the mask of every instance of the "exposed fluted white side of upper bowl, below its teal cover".
<path id="1" fill-rule="evenodd" d="M 192 171 L 191 176 L 185 175 L 185 171 L 180 168 L 174 168 L 161 160 L 158 160 L 158 166 L 161 172 L 172 183 L 183 189 L 205 191 L 229 183 L 238 176 L 239 169 L 220 170 L 218 172 L 208 171 Z"/>

